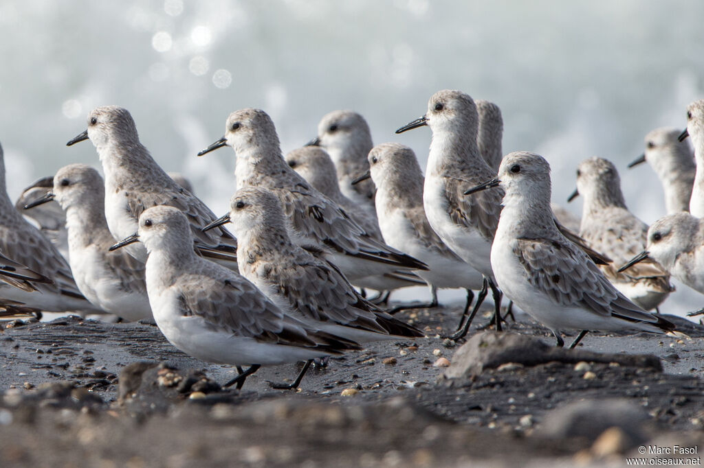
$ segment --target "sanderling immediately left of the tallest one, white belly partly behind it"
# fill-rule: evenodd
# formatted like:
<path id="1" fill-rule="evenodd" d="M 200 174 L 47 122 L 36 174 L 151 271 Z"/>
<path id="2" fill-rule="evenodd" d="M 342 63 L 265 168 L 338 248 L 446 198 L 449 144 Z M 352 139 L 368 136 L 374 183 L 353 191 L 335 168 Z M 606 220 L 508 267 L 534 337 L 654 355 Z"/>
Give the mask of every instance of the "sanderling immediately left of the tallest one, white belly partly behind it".
<path id="1" fill-rule="evenodd" d="M 363 177 L 371 177 L 377 187 L 375 204 L 384 241 L 428 266 L 427 271 L 416 273 L 430 287 L 432 302 L 413 307 L 435 307 L 438 288 L 462 287 L 467 290 L 465 316 L 474 297 L 472 290 L 482 287 L 482 273 L 452 252 L 430 227 L 423 209 L 423 174 L 415 153 L 399 143 L 383 143 L 369 152 L 369 164 L 370 171 Z"/>

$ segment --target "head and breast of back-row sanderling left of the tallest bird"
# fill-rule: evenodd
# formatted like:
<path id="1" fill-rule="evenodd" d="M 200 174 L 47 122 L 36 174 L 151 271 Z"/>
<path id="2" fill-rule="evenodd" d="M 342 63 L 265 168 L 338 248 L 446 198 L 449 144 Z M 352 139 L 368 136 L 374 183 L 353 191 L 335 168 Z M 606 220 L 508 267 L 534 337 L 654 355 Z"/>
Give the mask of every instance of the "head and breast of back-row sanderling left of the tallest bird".
<path id="1" fill-rule="evenodd" d="M 352 110 L 329 112 L 320 119 L 318 136 L 308 145 L 319 145 L 328 152 L 342 193 L 370 216 L 376 216 L 374 185 L 370 181 L 351 185 L 356 176 L 369 170 L 367 155 L 372 149 L 372 134 L 364 117 Z"/>

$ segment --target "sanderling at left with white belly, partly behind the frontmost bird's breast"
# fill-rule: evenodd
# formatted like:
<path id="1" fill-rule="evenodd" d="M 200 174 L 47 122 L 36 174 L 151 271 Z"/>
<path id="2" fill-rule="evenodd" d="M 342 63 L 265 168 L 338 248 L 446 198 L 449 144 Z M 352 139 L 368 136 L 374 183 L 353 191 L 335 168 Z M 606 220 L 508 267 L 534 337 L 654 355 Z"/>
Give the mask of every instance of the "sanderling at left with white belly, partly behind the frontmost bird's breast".
<path id="1" fill-rule="evenodd" d="M 126 320 L 151 318 L 144 264 L 115 243 L 105 220 L 105 190 L 98 171 L 70 164 L 54 176 L 54 190 L 25 208 L 56 200 L 65 210 L 69 261 L 73 278 L 92 304 Z M 31 210 L 30 210 L 31 211 Z"/>

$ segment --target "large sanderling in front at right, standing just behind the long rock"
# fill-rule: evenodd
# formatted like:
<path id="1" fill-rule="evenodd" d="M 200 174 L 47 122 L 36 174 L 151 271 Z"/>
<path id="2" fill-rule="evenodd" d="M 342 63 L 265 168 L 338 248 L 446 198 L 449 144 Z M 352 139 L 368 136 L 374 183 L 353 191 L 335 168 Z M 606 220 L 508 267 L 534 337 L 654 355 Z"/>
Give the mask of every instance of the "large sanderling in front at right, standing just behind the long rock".
<path id="1" fill-rule="evenodd" d="M 582 330 L 570 348 L 589 330 L 639 330 L 664 333 L 674 325 L 636 306 L 619 292 L 580 247 L 555 226 L 550 207 L 550 165 L 532 152 L 512 152 L 492 178 L 467 195 L 501 187 L 503 211 L 498 223 L 491 265 L 507 297 L 550 328 Z"/>

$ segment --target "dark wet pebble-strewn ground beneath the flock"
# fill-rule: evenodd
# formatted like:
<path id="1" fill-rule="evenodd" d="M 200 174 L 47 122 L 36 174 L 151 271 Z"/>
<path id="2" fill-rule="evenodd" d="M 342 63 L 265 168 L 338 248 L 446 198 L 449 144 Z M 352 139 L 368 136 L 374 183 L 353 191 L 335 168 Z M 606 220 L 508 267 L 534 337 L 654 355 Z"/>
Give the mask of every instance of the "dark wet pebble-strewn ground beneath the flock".
<path id="1" fill-rule="evenodd" d="M 436 308 L 398 317 L 435 334 L 453 328 L 459 313 Z M 501 336 L 538 339 L 503 358 L 508 345 L 481 342 L 491 333 L 477 336 L 475 327 L 486 323 L 479 317 L 470 332 L 477 339 L 463 348 L 474 353 L 469 360 L 455 356 L 462 343 L 392 339 L 330 359 L 299 391 L 268 384 L 293 379 L 299 365 L 263 368 L 241 391 L 220 389 L 232 368 L 189 358 L 153 325 L 75 317 L 6 322 L 0 460 L 47 467 L 694 460 L 698 453 L 639 454 L 641 446 L 704 450 L 704 327 L 668 318 L 690 338 L 589 334 L 573 353 L 538 362 L 530 356 L 552 352 L 541 347 L 554 342 L 547 330 L 519 316 Z M 505 362 L 463 371 L 484 351 Z M 450 368 L 441 366 L 445 359 Z M 448 369 L 459 377 L 444 377 Z"/>

